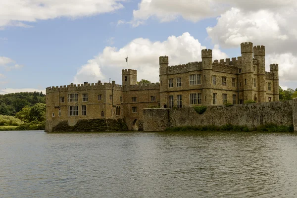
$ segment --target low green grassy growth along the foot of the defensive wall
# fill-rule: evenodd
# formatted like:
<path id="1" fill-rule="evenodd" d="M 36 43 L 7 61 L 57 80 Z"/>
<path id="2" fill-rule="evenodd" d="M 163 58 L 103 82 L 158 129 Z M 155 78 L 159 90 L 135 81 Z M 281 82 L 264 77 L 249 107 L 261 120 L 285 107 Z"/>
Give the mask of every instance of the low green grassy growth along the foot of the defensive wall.
<path id="1" fill-rule="evenodd" d="M 232 124 L 226 124 L 223 126 L 206 125 L 206 126 L 182 126 L 182 127 L 168 127 L 165 131 L 221 131 L 221 132 L 294 132 L 293 125 L 276 125 L 276 124 L 265 124 L 257 126 L 256 128 L 248 128 L 247 126 L 237 126 Z"/>

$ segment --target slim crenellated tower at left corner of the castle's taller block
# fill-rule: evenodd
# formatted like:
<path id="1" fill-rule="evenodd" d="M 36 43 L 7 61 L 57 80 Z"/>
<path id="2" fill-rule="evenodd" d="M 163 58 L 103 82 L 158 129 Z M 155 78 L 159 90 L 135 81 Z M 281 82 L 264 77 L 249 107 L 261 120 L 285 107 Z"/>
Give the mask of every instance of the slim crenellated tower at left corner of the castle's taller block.
<path id="1" fill-rule="evenodd" d="M 161 107 L 169 107 L 168 102 L 168 78 L 167 78 L 167 67 L 168 67 L 168 56 L 160 56 L 159 57 L 159 65 L 160 65 L 160 105 Z"/>

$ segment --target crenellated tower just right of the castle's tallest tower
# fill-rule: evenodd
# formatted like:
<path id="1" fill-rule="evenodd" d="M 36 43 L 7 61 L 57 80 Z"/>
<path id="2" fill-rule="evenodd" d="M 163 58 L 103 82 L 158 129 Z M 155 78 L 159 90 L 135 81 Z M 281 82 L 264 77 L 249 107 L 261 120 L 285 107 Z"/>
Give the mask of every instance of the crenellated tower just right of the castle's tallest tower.
<path id="1" fill-rule="evenodd" d="M 265 102 L 265 99 L 266 99 L 265 46 L 253 47 L 253 53 L 254 53 L 254 58 L 257 60 L 258 101 Z"/>

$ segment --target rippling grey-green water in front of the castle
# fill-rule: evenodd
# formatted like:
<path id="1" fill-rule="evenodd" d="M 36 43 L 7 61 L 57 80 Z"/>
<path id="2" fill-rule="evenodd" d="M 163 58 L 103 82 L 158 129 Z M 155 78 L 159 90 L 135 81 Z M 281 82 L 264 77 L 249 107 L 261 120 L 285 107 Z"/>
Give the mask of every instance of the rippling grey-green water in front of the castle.
<path id="1" fill-rule="evenodd" d="M 0 132 L 0 198 L 296 198 L 295 133 Z"/>

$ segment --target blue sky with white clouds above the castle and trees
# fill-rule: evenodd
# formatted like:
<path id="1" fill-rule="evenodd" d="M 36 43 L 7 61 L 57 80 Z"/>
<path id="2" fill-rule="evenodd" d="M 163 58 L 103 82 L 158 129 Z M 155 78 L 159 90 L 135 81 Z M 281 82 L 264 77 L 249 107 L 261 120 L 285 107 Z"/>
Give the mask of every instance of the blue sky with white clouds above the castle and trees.
<path id="1" fill-rule="evenodd" d="M 241 56 L 240 44 L 266 49 L 279 84 L 297 88 L 296 0 L 0 0 L 0 94 L 116 81 L 121 70 L 159 82 L 169 65 Z"/>

